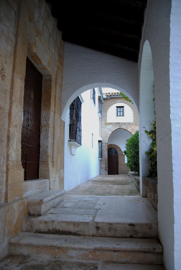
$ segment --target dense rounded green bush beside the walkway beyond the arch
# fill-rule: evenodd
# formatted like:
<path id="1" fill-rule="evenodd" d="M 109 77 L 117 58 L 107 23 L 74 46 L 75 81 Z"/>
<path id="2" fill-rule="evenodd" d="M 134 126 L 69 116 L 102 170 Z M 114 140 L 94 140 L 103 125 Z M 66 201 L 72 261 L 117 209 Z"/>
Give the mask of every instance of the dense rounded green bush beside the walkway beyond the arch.
<path id="1" fill-rule="evenodd" d="M 127 157 L 127 166 L 134 173 L 140 173 L 140 162 L 139 162 L 139 131 L 136 132 L 126 140 L 126 150 L 123 154 Z"/>

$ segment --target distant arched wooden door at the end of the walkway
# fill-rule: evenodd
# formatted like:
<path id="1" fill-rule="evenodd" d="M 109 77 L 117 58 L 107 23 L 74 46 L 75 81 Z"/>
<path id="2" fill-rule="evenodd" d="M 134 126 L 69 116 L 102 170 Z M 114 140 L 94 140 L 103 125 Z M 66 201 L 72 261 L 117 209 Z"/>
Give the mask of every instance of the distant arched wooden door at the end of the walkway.
<path id="1" fill-rule="evenodd" d="M 115 148 L 109 148 L 107 151 L 108 174 L 118 174 L 118 153 Z"/>

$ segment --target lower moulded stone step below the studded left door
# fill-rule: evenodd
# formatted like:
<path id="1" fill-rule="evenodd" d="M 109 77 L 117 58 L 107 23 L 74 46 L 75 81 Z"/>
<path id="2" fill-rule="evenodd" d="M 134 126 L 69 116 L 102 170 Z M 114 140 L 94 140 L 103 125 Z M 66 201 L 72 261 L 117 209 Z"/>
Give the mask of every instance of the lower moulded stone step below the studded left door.
<path id="1" fill-rule="evenodd" d="M 65 190 L 46 190 L 38 194 L 28 196 L 29 215 L 43 215 L 52 207 L 64 200 Z"/>

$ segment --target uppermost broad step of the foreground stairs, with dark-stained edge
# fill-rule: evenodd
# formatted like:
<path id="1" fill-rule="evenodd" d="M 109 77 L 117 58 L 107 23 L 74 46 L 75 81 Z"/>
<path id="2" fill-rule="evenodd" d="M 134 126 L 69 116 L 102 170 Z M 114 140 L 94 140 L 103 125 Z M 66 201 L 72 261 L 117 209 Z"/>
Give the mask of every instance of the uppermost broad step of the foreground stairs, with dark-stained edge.
<path id="1" fill-rule="evenodd" d="M 74 215 L 27 217 L 23 220 L 22 230 L 67 235 L 157 238 L 157 223 L 96 222 L 86 215 L 83 218 L 85 221 L 75 220 Z"/>

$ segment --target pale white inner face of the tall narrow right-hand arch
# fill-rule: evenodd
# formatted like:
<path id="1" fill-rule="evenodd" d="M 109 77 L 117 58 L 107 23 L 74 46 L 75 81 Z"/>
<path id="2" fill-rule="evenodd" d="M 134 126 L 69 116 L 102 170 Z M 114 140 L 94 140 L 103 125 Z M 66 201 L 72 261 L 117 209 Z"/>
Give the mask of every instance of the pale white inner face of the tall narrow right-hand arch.
<path id="1" fill-rule="evenodd" d="M 150 161 L 145 151 L 149 150 L 152 142 L 145 130 L 153 129 L 150 124 L 155 119 L 153 61 L 148 40 L 144 43 L 141 59 L 139 109 L 140 179 L 142 179 L 142 176 L 149 174 Z M 143 197 L 146 196 L 146 188 L 142 181 L 140 193 Z"/>

